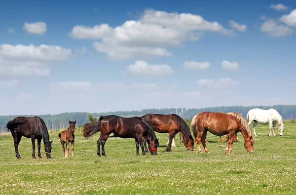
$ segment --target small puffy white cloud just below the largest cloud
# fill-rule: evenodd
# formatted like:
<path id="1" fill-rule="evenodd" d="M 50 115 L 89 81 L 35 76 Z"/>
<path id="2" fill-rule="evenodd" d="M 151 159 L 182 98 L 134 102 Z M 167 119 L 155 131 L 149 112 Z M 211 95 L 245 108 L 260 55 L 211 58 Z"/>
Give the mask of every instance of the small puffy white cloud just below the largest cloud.
<path id="1" fill-rule="evenodd" d="M 167 75 L 174 73 L 171 67 L 166 64 L 151 65 L 148 64 L 146 61 L 142 60 L 137 60 L 135 64 L 128 65 L 127 69 L 129 72 L 133 74 L 143 74 L 152 76 Z"/>

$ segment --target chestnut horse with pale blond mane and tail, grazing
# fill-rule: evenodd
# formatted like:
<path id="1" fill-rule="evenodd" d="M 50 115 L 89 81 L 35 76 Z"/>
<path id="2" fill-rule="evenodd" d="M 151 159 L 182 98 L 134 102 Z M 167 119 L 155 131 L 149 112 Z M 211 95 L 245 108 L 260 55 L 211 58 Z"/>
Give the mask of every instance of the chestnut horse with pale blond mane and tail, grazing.
<path id="1" fill-rule="evenodd" d="M 254 139 L 252 132 L 245 118 L 238 113 L 199 113 L 195 118 L 195 123 L 193 125 L 193 132 L 197 134 L 195 141 L 198 146 L 198 153 L 202 153 L 200 141 L 204 147 L 205 153 L 209 153 L 205 142 L 208 131 L 217 136 L 229 133 L 229 140 L 225 148 L 225 154 L 234 154 L 232 143 L 233 136 L 237 132 L 242 133 L 245 139 L 244 146 L 248 154 L 254 153 Z"/>

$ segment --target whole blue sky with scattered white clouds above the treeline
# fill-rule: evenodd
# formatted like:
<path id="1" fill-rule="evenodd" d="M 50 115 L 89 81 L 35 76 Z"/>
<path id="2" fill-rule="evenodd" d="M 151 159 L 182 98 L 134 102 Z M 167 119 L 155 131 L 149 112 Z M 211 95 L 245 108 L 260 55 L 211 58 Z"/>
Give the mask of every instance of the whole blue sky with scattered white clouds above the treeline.
<path id="1" fill-rule="evenodd" d="M 295 0 L 9 0 L 0 115 L 296 104 Z"/>

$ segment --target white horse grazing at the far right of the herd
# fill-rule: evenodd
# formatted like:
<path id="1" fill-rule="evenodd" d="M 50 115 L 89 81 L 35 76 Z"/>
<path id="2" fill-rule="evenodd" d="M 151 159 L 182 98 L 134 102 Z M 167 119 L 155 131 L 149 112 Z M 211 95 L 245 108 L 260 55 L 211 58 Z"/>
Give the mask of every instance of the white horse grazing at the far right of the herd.
<path id="1" fill-rule="evenodd" d="M 248 112 L 247 114 L 247 122 L 250 126 L 250 124 L 252 123 L 252 121 L 254 121 L 254 125 L 253 125 L 253 131 L 254 131 L 254 135 L 256 135 L 256 125 L 257 122 L 259 122 L 260 124 L 269 124 L 269 136 L 275 136 L 275 124 L 276 122 L 279 123 L 279 134 L 283 135 L 284 132 L 284 126 L 285 124 L 283 124 L 283 117 L 273 108 L 269 109 L 269 110 L 262 110 L 259 108 L 256 109 L 252 109 Z M 271 129 L 273 129 L 273 134 L 271 134 Z"/>

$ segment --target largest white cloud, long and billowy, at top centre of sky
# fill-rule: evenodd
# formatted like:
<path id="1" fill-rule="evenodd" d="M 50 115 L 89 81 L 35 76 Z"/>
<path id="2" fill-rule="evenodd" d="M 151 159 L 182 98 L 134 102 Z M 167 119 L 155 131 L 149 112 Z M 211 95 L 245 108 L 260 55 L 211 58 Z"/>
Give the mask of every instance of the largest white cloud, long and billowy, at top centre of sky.
<path id="1" fill-rule="evenodd" d="M 139 59 L 171 56 L 167 48 L 198 40 L 203 31 L 233 34 L 218 22 L 209 22 L 199 15 L 146 10 L 138 21 L 126 21 L 115 28 L 108 24 L 75 26 L 69 35 L 76 39 L 99 39 L 93 47 L 111 59 Z"/>

